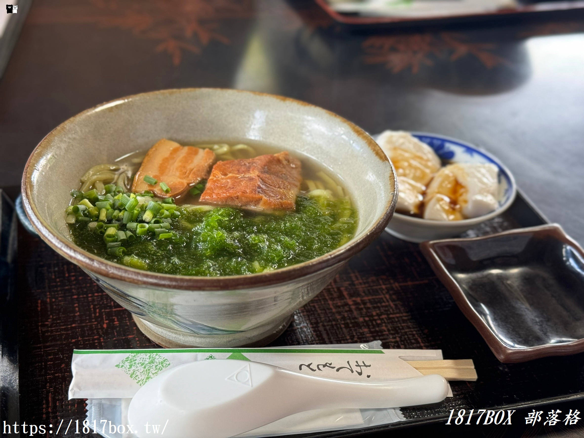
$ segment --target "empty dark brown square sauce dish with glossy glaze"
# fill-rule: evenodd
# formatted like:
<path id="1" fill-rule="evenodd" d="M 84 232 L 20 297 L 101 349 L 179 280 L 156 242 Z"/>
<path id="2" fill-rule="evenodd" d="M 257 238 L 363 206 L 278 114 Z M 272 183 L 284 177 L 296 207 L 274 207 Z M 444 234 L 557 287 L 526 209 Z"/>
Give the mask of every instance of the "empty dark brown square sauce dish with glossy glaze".
<path id="1" fill-rule="evenodd" d="M 584 351 L 584 251 L 558 224 L 420 249 L 500 361 Z"/>

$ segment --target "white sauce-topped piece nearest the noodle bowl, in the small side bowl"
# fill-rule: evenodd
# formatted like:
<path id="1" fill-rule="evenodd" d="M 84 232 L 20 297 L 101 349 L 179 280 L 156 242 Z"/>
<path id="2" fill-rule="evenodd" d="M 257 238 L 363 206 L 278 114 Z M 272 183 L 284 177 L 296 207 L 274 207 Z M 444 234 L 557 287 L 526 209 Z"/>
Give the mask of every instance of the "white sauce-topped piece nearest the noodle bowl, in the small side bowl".
<path id="1" fill-rule="evenodd" d="M 405 131 L 384 131 L 377 142 L 398 175 L 399 197 L 395 210 L 419 214 L 422 194 L 440 169 L 440 158 L 427 144 Z"/>

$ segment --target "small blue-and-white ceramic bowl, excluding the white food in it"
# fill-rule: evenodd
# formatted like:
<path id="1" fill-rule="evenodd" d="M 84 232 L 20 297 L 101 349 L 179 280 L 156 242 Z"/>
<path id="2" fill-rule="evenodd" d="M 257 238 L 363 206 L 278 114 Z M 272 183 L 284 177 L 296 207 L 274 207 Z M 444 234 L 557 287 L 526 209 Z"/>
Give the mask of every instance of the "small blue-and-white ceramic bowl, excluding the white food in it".
<path id="1" fill-rule="evenodd" d="M 429 145 L 443 162 L 494 164 L 499 169 L 499 208 L 489 214 L 461 221 L 433 221 L 395 213 L 385 231 L 408 242 L 423 242 L 456 237 L 507 210 L 515 200 L 515 179 L 497 158 L 476 146 L 443 135 L 414 132 L 412 135 Z"/>

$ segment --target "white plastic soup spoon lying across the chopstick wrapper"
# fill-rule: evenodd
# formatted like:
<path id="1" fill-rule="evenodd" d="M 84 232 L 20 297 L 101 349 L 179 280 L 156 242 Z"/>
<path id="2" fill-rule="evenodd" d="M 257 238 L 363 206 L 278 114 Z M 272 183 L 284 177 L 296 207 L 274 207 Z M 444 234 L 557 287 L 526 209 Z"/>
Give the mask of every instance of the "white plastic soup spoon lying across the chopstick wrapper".
<path id="1" fill-rule="evenodd" d="M 359 383 L 251 361 L 201 360 L 141 387 L 128 421 L 139 438 L 228 438 L 311 409 L 426 405 L 447 393 L 446 380 L 437 374 Z"/>

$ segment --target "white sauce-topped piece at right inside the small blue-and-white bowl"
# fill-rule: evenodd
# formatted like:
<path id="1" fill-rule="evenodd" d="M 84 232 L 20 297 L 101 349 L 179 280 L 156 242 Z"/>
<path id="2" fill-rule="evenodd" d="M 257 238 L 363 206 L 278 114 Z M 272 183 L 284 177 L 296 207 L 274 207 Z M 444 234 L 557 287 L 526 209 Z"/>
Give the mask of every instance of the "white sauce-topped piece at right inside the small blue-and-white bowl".
<path id="1" fill-rule="evenodd" d="M 427 187 L 423 218 L 455 221 L 491 213 L 499 206 L 493 164 L 450 164 Z"/>

